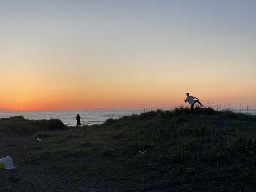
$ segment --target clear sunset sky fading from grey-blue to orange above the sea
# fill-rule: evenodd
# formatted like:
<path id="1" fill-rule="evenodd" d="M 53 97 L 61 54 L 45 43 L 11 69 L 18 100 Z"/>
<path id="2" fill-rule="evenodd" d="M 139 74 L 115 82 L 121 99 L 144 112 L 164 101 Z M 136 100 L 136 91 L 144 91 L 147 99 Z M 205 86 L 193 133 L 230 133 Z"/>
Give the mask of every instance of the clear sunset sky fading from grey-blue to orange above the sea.
<path id="1" fill-rule="evenodd" d="M 0 3 L 0 110 L 256 107 L 254 0 Z"/>

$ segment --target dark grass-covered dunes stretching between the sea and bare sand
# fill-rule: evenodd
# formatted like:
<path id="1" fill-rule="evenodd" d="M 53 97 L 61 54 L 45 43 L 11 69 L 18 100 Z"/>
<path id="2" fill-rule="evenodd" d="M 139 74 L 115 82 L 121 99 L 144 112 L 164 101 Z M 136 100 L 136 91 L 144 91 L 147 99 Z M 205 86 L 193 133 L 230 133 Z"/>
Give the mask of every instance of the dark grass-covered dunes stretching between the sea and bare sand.
<path id="1" fill-rule="evenodd" d="M 60 120 L 19 116 L 0 119 L 0 128 L 2 136 L 31 138 L 18 154 L 20 164 L 81 172 L 78 180 L 89 171 L 125 183 L 164 180 L 166 188 L 179 190 L 256 186 L 255 115 L 198 107 L 190 115 L 180 107 L 67 129 Z"/>

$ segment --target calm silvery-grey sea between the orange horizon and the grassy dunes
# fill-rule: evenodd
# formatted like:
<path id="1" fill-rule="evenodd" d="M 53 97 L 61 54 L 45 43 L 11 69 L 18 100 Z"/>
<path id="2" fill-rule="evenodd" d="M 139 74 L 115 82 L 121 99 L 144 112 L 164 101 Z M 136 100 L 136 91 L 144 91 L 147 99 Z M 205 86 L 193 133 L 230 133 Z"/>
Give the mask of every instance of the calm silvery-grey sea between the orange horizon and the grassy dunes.
<path id="1" fill-rule="evenodd" d="M 163 109 L 172 110 L 173 108 Z M 149 109 L 150 110 L 150 109 Z M 23 116 L 26 119 L 60 119 L 65 125 L 76 126 L 76 115 L 81 116 L 81 125 L 102 124 L 106 119 L 118 119 L 131 114 L 147 112 L 145 109 L 97 109 L 97 110 L 42 110 L 0 111 L 0 118 Z M 218 110 L 225 110 L 220 108 Z M 232 108 L 235 112 L 256 115 L 256 108 Z"/>

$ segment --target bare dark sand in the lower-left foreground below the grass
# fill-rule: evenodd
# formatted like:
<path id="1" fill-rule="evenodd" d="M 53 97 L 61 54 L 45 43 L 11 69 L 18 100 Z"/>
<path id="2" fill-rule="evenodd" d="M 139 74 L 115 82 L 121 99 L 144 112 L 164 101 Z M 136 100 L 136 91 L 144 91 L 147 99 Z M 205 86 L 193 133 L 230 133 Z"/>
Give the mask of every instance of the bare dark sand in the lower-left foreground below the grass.
<path id="1" fill-rule="evenodd" d="M 22 164 L 19 155 L 25 150 L 22 146 L 30 142 L 26 137 L 1 138 L 0 154 L 11 156 L 16 169 L 0 169 L 0 188 L 8 192 L 64 192 L 64 191 L 166 191 L 162 182 L 148 180 L 142 183 L 127 184 L 125 180 L 112 180 L 110 176 L 92 175 L 89 172 L 67 173 L 49 170 L 40 164 Z M 18 154 L 18 155 L 17 155 Z M 171 191 L 171 189 L 170 189 Z"/>

